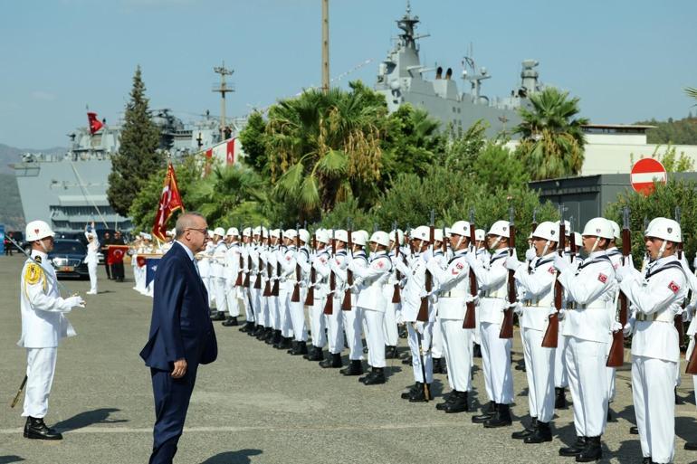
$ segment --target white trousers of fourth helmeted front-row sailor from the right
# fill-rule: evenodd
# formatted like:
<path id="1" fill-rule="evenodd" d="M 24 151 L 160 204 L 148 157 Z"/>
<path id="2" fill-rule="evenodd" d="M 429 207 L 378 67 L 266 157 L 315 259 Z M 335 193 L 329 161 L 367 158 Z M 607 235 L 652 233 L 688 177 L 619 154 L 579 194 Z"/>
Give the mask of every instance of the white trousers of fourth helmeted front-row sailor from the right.
<path id="1" fill-rule="evenodd" d="M 483 322 L 482 366 L 487 394 L 492 402 L 513 402 L 513 376 L 511 374 L 511 338 L 500 338 L 501 324 Z M 488 383 L 486 380 L 488 379 Z M 491 393 L 490 393 L 491 389 Z"/>

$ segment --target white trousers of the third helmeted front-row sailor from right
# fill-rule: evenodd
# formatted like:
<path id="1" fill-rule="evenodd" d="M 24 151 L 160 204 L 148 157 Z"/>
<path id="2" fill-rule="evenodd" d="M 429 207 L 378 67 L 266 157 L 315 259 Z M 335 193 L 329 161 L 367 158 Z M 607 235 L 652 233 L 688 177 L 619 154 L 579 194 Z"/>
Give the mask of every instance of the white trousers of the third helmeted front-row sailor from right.
<path id="1" fill-rule="evenodd" d="M 525 374 L 528 377 L 528 406 L 530 417 L 549 422 L 554 417 L 554 375 L 557 348 L 542 347 L 544 332 L 523 328 Z"/>

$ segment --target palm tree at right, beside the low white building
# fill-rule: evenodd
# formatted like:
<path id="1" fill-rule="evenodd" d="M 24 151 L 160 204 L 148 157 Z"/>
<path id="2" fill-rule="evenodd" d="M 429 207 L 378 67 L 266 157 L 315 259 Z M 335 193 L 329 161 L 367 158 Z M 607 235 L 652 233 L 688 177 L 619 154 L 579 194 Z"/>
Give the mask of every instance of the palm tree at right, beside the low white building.
<path id="1" fill-rule="evenodd" d="M 578 175 L 583 166 L 585 139 L 578 118 L 578 98 L 547 88 L 530 95 L 531 108 L 521 108 L 518 155 L 532 180 Z"/>

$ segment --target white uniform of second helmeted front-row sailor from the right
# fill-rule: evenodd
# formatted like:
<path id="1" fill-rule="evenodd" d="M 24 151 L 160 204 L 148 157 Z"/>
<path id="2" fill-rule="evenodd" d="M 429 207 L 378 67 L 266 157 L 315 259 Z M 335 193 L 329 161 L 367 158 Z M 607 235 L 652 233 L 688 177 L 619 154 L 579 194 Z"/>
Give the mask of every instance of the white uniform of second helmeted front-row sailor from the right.
<path id="1" fill-rule="evenodd" d="M 612 341 L 615 268 L 606 251 L 594 251 L 578 266 L 559 272 L 566 290 L 568 387 L 578 437 L 599 437 L 607 420 L 607 344 Z"/>

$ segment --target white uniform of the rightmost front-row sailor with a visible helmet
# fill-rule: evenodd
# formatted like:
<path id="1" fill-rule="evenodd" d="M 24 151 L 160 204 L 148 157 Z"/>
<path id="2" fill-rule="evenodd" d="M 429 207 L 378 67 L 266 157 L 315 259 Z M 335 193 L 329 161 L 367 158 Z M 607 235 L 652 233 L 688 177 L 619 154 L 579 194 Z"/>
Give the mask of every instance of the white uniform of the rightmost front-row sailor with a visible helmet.
<path id="1" fill-rule="evenodd" d="M 654 462 L 673 462 L 675 453 L 673 389 L 680 346 L 673 318 L 687 294 L 679 262 L 675 256 L 655 260 L 644 277 L 634 271 L 620 282 L 620 289 L 636 310 L 632 336 L 636 426 L 642 454 Z"/>

